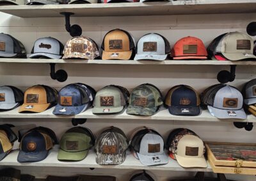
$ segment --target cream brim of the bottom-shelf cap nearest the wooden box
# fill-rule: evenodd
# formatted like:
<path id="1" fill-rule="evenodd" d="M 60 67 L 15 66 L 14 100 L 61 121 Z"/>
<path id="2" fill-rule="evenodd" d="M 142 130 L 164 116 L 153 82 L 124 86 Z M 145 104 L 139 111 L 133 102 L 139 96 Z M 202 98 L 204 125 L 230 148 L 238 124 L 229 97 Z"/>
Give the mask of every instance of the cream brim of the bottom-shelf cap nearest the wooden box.
<path id="1" fill-rule="evenodd" d="M 180 166 L 185 168 L 207 168 L 207 162 L 205 160 L 204 155 L 202 157 L 181 157 L 175 154 L 175 158 L 177 159 Z"/>

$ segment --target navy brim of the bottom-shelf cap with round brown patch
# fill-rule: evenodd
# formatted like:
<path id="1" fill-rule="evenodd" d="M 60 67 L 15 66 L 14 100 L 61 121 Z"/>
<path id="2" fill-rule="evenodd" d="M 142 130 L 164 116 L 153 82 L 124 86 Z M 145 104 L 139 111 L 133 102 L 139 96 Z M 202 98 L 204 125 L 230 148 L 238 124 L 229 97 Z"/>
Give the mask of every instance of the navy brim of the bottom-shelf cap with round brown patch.
<path id="1" fill-rule="evenodd" d="M 17 160 L 20 163 L 24 162 L 36 162 L 44 160 L 48 155 L 48 151 L 43 152 L 23 152 L 20 150 Z"/>

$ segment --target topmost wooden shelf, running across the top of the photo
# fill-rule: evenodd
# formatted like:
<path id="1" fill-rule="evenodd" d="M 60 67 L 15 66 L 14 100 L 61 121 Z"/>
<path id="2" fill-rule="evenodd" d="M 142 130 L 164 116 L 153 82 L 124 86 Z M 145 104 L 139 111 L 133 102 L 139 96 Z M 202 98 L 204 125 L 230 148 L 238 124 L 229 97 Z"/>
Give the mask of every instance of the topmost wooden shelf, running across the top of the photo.
<path id="1" fill-rule="evenodd" d="M 0 11 L 17 17 L 63 17 L 61 12 L 76 17 L 146 16 L 212 13 L 255 13 L 255 0 L 196 0 L 150 3 L 54 4 L 0 6 Z M 29 12 L 29 13 L 28 13 Z"/>

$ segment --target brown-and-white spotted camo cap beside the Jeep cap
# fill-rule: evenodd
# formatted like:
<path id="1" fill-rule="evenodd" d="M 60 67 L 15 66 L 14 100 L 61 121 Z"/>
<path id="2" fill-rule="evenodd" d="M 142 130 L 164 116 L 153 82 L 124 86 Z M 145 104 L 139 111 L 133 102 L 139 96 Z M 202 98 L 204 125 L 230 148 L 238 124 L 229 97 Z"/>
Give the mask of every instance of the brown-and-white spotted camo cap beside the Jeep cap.
<path id="1" fill-rule="evenodd" d="M 76 36 L 67 41 L 62 59 L 95 59 L 100 56 L 95 41 L 88 37 Z"/>

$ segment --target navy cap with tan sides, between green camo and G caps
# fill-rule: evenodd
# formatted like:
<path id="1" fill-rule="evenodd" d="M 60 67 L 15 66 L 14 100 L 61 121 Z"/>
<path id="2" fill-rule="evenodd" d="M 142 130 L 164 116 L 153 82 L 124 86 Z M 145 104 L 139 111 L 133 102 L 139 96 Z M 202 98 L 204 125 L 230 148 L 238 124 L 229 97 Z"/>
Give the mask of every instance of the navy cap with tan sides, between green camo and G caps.
<path id="1" fill-rule="evenodd" d="M 172 87 L 166 94 L 165 105 L 172 115 L 199 115 L 200 98 L 198 93 L 188 85 Z"/>

